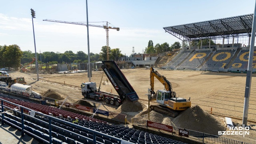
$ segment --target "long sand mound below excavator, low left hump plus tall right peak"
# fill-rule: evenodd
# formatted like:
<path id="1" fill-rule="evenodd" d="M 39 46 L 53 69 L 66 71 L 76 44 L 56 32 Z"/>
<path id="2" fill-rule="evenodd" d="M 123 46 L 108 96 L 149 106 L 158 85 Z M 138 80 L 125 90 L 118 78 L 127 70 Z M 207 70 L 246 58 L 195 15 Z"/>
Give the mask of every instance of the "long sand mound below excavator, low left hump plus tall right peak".
<path id="1" fill-rule="evenodd" d="M 139 117 L 148 119 L 148 114 L 144 114 Z M 152 110 L 150 112 L 150 120 L 213 135 L 218 135 L 218 131 L 226 131 L 226 126 L 220 121 L 220 119 L 209 114 L 208 112 L 205 112 L 198 105 L 188 108 L 180 113 L 176 118 L 172 118 Z"/>

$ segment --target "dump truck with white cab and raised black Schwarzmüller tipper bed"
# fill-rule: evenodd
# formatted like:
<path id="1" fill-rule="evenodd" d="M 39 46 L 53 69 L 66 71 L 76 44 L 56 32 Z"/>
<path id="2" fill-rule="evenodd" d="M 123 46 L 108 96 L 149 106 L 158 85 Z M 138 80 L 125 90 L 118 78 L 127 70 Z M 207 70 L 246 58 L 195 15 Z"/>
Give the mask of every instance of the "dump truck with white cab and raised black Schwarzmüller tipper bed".
<path id="1" fill-rule="evenodd" d="M 124 103 L 124 100 L 126 100 L 126 98 L 128 98 L 128 100 L 132 102 L 138 101 L 138 95 L 136 94 L 128 80 L 125 78 L 124 74 L 118 68 L 114 60 L 102 61 L 102 70 L 108 77 L 112 86 L 114 86 L 118 95 L 100 91 L 100 86 L 97 90 L 96 82 L 84 82 L 81 84 L 82 95 L 84 96 L 84 98 L 92 98 L 96 101 L 104 100 L 106 104 L 112 104 L 115 106 L 120 106 L 122 103 Z"/>

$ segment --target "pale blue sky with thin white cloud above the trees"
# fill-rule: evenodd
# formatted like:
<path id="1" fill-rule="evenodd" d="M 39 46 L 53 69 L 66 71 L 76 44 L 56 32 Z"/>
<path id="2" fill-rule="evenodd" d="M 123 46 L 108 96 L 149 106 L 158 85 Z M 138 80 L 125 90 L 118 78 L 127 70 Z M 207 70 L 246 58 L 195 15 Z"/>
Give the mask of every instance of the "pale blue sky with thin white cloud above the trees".
<path id="1" fill-rule="evenodd" d="M 36 52 L 72 50 L 88 54 L 87 28 L 82 25 L 43 21 L 86 22 L 86 0 L 0 0 L 0 45 L 17 44 L 35 52 L 30 8 L 36 12 Z M 154 45 L 173 44 L 178 38 L 163 27 L 254 13 L 255 0 L 88 0 L 88 22 L 119 27 L 109 30 L 110 48 L 129 56 L 132 47 L 142 53 Z M 97 22 L 97 23 L 94 23 Z M 104 23 L 103 23 L 104 22 Z M 106 31 L 89 26 L 90 52 L 106 46 Z"/>

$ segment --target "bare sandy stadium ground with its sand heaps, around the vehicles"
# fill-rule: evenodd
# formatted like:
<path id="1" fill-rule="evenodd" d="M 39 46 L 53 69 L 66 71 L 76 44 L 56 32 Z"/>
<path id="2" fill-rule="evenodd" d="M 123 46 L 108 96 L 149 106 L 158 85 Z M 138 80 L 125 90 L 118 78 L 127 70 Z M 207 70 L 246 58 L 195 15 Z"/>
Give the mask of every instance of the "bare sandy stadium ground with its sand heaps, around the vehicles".
<path id="1" fill-rule="evenodd" d="M 150 88 L 150 70 L 124 69 L 123 74 L 130 82 L 139 96 L 137 104 L 124 103 L 119 107 L 105 104 L 104 101 L 96 102 L 94 99 L 86 99 L 91 106 L 98 106 L 100 110 L 125 114 L 128 124 L 132 127 L 133 117 L 148 120 L 148 88 Z M 218 131 L 226 131 L 224 117 L 231 117 L 234 124 L 242 123 L 243 95 L 245 74 L 201 72 L 189 70 L 158 70 L 172 83 L 178 97 L 192 101 L 191 108 L 182 112 L 178 117 L 172 118 L 166 114 L 150 110 L 149 120 L 161 124 L 171 125 L 217 135 Z M 100 84 L 103 72 L 92 72 L 92 81 Z M 40 80 L 36 81 L 36 74 L 11 72 L 10 76 L 19 76 L 26 79 L 32 90 L 57 100 L 67 97 L 69 103 L 77 103 L 84 99 L 80 85 L 87 73 L 73 74 L 41 74 Z M 255 77 L 252 78 L 254 81 Z M 101 91 L 117 94 L 108 78 L 103 74 Z M 155 89 L 164 89 L 163 84 L 155 82 Z M 248 115 L 248 123 L 255 124 L 254 120 L 254 84 L 252 84 L 251 107 Z M 48 91 L 50 94 L 48 94 Z M 56 96 L 58 95 L 58 96 Z M 152 101 L 150 104 L 156 104 Z M 211 110 L 212 109 L 212 110 Z M 250 130 L 250 135 L 224 136 L 235 140 L 255 142 L 255 131 Z"/>

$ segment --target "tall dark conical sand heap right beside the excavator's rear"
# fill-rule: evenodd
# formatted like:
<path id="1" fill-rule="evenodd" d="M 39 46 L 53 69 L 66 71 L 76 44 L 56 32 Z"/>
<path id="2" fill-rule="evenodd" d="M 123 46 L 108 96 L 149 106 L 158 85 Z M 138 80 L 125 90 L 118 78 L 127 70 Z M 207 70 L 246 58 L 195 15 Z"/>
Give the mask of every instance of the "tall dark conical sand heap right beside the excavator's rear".
<path id="1" fill-rule="evenodd" d="M 226 131 L 223 122 L 220 122 L 215 116 L 205 112 L 200 106 L 193 106 L 172 121 L 175 126 L 218 135 L 218 131 Z"/>

